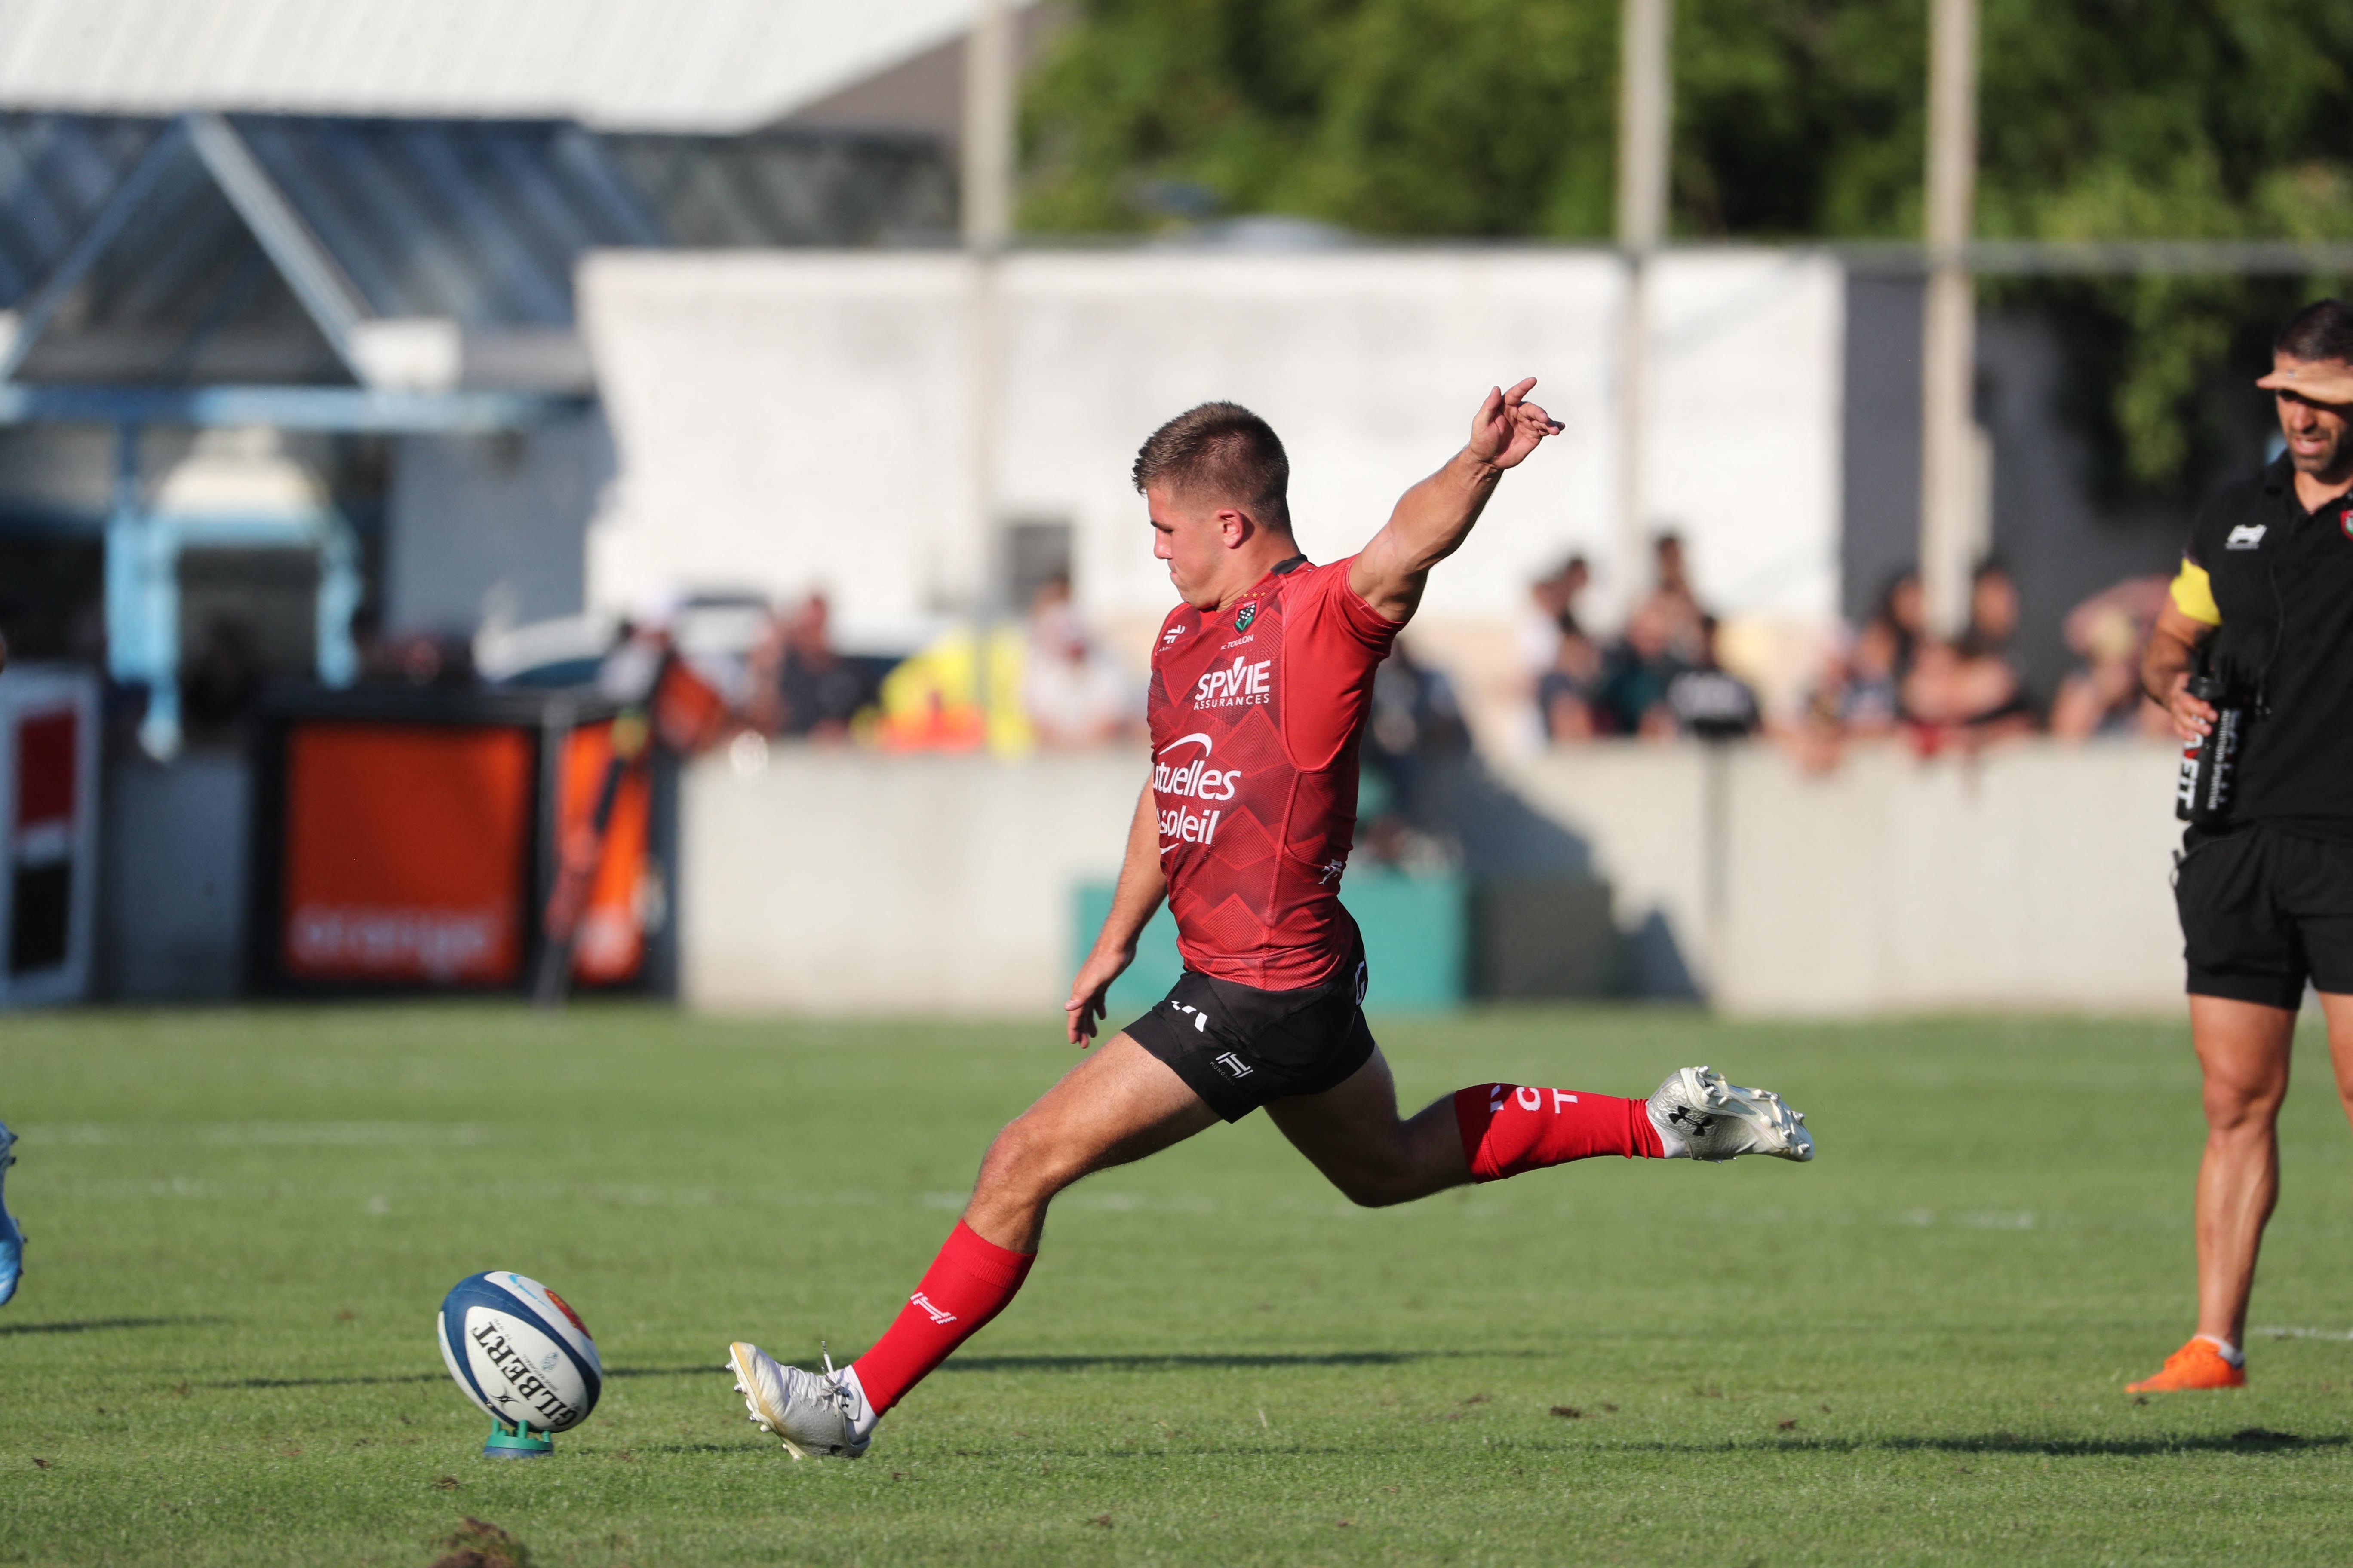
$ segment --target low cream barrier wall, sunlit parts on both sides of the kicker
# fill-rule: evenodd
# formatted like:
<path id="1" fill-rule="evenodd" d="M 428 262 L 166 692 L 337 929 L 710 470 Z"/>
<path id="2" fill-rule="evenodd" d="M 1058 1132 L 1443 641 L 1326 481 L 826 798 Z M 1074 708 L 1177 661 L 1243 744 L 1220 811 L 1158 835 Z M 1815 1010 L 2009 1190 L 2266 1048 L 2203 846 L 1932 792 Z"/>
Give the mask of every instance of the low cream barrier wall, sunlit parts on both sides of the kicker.
<path id="1" fill-rule="evenodd" d="M 2165 745 L 2017 745 L 1826 776 L 1772 748 L 1562 750 L 1506 783 L 1586 839 L 1732 1013 L 2169 1011 Z M 706 762 L 685 797 L 699 1006 L 1052 1013 L 1071 886 L 1111 875 L 1141 755 Z"/>

